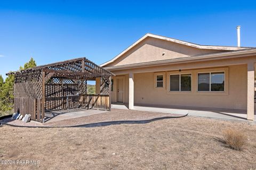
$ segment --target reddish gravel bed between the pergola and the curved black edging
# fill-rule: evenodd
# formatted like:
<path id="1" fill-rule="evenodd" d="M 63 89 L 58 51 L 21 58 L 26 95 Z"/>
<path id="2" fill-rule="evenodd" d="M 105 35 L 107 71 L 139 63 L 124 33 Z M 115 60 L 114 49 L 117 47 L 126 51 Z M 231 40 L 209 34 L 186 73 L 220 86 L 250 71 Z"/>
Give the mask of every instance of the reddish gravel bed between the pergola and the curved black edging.
<path id="1" fill-rule="evenodd" d="M 23 123 L 20 120 L 13 121 L 10 118 L 4 121 L 10 124 L 25 125 L 25 126 L 71 126 L 71 125 L 105 122 L 105 121 L 149 120 L 151 118 L 163 117 L 163 116 L 181 116 L 181 115 L 156 113 L 156 112 L 130 111 L 130 110 L 124 110 L 124 109 L 112 109 L 111 112 L 78 117 L 78 118 L 70 118 L 68 120 L 49 122 L 49 123 L 47 122 L 39 123 L 35 121 Z"/>

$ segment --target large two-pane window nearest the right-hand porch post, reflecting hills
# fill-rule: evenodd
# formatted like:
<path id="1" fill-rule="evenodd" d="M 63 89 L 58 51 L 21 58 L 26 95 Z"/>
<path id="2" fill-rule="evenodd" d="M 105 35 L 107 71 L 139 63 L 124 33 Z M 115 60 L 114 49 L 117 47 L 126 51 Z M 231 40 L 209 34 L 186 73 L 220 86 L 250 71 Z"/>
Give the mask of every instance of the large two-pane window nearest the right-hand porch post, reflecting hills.
<path id="1" fill-rule="evenodd" d="M 224 91 L 225 73 L 198 73 L 198 91 Z"/>

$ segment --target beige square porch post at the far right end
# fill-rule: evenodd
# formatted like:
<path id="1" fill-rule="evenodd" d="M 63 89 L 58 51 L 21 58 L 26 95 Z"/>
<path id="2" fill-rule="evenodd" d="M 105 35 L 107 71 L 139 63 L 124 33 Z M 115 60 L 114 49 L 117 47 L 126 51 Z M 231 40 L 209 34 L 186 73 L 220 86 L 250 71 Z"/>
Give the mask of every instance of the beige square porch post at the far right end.
<path id="1" fill-rule="evenodd" d="M 247 120 L 254 120 L 254 63 L 247 63 Z"/>

